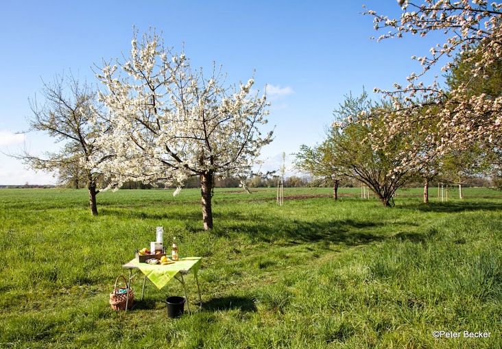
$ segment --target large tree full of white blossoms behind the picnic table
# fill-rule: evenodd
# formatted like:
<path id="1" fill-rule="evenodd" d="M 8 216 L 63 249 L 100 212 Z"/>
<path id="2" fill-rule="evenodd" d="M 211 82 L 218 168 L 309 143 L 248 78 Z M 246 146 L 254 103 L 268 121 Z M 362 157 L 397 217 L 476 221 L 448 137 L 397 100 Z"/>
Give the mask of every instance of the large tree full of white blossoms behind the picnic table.
<path id="1" fill-rule="evenodd" d="M 100 144 L 115 158 L 101 164 L 115 184 L 125 180 L 182 186 L 199 176 L 204 229 L 213 228 L 211 197 L 215 176 L 250 171 L 261 147 L 269 111 L 265 94 L 252 94 L 254 80 L 226 86 L 220 69 L 204 77 L 189 58 L 163 44 L 155 32 L 135 32 L 125 62 L 103 62 L 97 78 L 109 111 L 110 134 Z"/>

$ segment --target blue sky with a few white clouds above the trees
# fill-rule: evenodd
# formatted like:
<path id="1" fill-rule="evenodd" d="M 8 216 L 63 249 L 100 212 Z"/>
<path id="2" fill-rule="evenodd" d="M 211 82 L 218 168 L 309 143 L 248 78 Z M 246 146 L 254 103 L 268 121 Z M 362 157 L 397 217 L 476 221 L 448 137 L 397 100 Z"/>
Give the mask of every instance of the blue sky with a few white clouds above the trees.
<path id="1" fill-rule="evenodd" d="M 247 81 L 256 69 L 254 87 L 270 86 L 267 126 L 275 125 L 274 142 L 263 148 L 263 169 L 278 169 L 283 152 L 289 168 L 289 154 L 322 140 L 344 95 L 403 84 L 421 70 L 411 56 L 424 56 L 437 43 L 370 40 L 382 33 L 359 13 L 363 3 L 387 16 L 401 14 L 396 0 L 2 1 L 0 150 L 58 149 L 43 134 L 12 134 L 27 129 L 28 97 L 40 92 L 42 80 L 70 70 L 94 83 L 91 66 L 127 55 L 135 25 L 140 34 L 155 27 L 178 50 L 184 43 L 194 66 L 222 64 L 228 82 Z M 55 182 L 3 154 L 0 164 L 0 184 Z"/>

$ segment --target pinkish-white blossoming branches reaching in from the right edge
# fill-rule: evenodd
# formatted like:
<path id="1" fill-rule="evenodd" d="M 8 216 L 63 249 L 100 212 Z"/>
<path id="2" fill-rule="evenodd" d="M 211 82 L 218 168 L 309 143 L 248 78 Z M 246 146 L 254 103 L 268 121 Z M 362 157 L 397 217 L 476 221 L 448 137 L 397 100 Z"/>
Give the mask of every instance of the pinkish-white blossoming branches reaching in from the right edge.
<path id="1" fill-rule="evenodd" d="M 472 93 L 472 80 L 464 80 L 444 90 L 435 77 L 429 85 L 420 82 L 435 64 L 445 60 L 442 73 L 449 75 L 459 64 L 459 57 L 472 61 L 473 77 L 486 78 L 487 68 L 502 55 L 502 3 L 483 0 L 398 0 L 401 19 L 389 19 L 372 10 L 374 28 L 385 29 L 378 40 L 401 38 L 407 34 L 426 36 L 444 34 L 443 43 L 430 49 L 428 56 L 416 57 L 423 66 L 411 73 L 407 86 L 394 84 L 394 91 L 382 91 L 392 101 L 392 112 L 383 117 L 383 128 L 374 132 L 379 142 L 387 143 L 403 132 L 419 132 L 418 138 L 435 147 L 438 156 L 482 145 L 497 152 L 501 146 L 502 95 Z M 488 69 L 489 70 L 489 69 Z M 433 107 L 432 107 L 433 106 Z M 411 147 L 407 163 L 417 165 L 422 145 Z"/>

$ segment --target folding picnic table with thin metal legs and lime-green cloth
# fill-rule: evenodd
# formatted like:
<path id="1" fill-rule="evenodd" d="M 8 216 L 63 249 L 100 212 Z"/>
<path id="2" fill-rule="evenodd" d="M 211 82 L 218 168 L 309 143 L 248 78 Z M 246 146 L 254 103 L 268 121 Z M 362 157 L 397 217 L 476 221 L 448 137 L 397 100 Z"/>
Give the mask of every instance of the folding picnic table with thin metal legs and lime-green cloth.
<path id="1" fill-rule="evenodd" d="M 160 265 L 160 264 L 155 264 L 155 265 L 150 265 L 148 263 L 139 263 L 139 261 L 134 258 L 132 261 L 129 261 L 128 263 L 125 263 L 122 265 L 123 268 L 129 269 L 129 287 L 131 285 L 131 280 L 134 277 L 133 271 L 134 269 L 139 269 L 143 274 L 145 274 L 143 278 L 143 289 L 141 290 L 141 300 L 143 300 L 143 294 L 145 293 L 145 282 L 146 279 L 148 278 L 158 289 L 162 289 L 165 285 L 167 285 L 167 282 L 171 280 L 171 278 L 175 278 L 178 280 L 181 285 L 183 286 L 183 292 L 184 292 L 184 298 L 187 300 L 187 309 L 188 312 L 190 313 L 190 306 L 188 302 L 188 297 L 187 297 L 187 289 L 185 288 L 184 285 L 184 275 L 187 275 L 190 270 L 193 271 L 193 276 L 195 278 L 195 282 L 197 282 L 197 290 L 199 292 L 199 309 L 202 309 L 202 296 L 200 295 L 200 286 L 199 286 L 199 279 L 197 277 L 197 273 L 200 268 L 200 263 L 201 263 L 200 257 L 185 257 L 185 258 L 180 258 L 179 261 L 176 261 L 172 264 L 169 265 Z M 125 302 L 125 311 L 128 311 L 128 305 L 129 305 L 129 292 L 127 293 L 127 300 Z"/>

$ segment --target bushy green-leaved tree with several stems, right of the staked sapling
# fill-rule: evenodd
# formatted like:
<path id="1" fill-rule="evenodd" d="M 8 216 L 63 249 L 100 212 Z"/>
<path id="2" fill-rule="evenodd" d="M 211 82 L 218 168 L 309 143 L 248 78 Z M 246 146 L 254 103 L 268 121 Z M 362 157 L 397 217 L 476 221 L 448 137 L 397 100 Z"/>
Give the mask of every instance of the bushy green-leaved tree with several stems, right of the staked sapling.
<path id="1" fill-rule="evenodd" d="M 403 167 L 407 138 L 405 136 L 381 145 L 370 134 L 383 127 L 379 118 L 382 110 L 392 108 L 374 104 L 366 91 L 360 97 L 345 96 L 343 104 L 335 109 L 335 123 L 326 132 L 326 139 L 315 147 L 302 145 L 296 154 L 296 166 L 314 176 L 352 178 L 366 184 L 381 200 L 390 206 L 396 190 L 413 176 L 409 167 Z M 367 118 L 372 115 L 371 121 Z"/>

